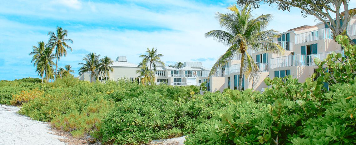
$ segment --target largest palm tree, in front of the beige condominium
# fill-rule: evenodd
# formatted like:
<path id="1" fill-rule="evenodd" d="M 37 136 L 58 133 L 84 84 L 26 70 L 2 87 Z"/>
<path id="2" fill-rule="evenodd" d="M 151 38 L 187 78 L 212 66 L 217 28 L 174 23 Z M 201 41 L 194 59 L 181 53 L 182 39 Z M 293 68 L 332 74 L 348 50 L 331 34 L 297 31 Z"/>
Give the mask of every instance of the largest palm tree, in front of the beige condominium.
<path id="1" fill-rule="evenodd" d="M 221 14 L 216 13 L 216 18 L 220 27 L 227 31 L 213 30 L 205 33 L 205 37 L 213 37 L 219 43 L 223 43 L 229 48 L 213 65 L 209 76 L 213 75 L 216 68 L 226 64 L 237 54 L 241 54 L 240 80 L 238 90 L 242 87 L 242 75 L 244 74 L 252 80 L 252 87 L 255 87 L 258 80 L 258 68 L 250 54 L 246 53 L 248 48 L 256 51 L 266 51 L 268 53 L 282 54 L 284 50 L 276 43 L 270 40 L 276 37 L 278 31 L 270 29 L 265 30 L 272 15 L 261 15 L 254 18 L 251 14 L 250 6 L 243 6 L 239 10 L 236 6 L 228 7 L 234 13 Z"/>

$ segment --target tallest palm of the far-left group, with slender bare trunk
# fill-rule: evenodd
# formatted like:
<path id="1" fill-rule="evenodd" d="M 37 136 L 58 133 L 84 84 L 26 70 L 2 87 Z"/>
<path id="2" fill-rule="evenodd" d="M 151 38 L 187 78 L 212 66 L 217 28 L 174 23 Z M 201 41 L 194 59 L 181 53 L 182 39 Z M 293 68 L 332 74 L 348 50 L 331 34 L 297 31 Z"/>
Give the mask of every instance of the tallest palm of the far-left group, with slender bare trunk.
<path id="1" fill-rule="evenodd" d="M 57 67 L 58 67 L 58 60 L 64 55 L 67 56 L 67 50 L 69 49 L 72 51 L 72 48 L 67 43 L 72 43 L 72 39 L 67 39 L 68 31 L 66 29 L 62 29 L 62 27 L 57 26 L 57 34 L 54 34 L 52 31 L 48 32 L 49 40 L 47 46 L 50 47 L 52 50 L 56 48 L 56 72 L 57 74 Z M 54 76 L 54 80 L 56 80 L 56 76 Z"/>

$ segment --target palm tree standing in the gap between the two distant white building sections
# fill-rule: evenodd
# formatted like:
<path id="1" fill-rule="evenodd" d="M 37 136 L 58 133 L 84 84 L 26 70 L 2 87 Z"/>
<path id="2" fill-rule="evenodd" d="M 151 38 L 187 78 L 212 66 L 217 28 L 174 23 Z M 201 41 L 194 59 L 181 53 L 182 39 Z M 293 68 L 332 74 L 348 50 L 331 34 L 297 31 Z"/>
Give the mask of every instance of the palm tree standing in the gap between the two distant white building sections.
<path id="1" fill-rule="evenodd" d="M 163 57 L 163 55 L 157 54 L 157 49 L 155 50 L 155 47 L 153 47 L 152 50 L 147 48 L 146 54 L 142 54 L 142 55 L 140 55 L 140 57 L 142 58 L 142 63 L 140 63 L 138 65 L 138 67 L 146 66 L 147 63 L 150 63 L 149 70 L 152 71 L 151 67 L 153 65 L 153 71 L 156 71 L 157 64 L 164 65 L 164 62 L 161 61 L 161 57 Z M 149 73 L 149 74 L 151 74 L 151 73 Z"/>

